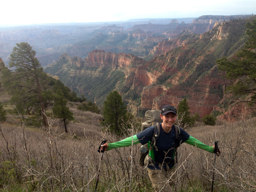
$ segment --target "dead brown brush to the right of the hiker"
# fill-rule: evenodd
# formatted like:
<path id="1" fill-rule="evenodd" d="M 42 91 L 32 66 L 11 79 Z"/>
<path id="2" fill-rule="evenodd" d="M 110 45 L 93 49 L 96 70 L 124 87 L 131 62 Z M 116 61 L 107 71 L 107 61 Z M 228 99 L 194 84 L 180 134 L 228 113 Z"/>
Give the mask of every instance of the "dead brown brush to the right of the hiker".
<path id="1" fill-rule="evenodd" d="M 188 133 L 207 145 L 219 140 L 221 155 L 216 158 L 215 164 L 217 189 L 255 191 L 255 118 L 214 127 L 196 127 L 190 129 Z M 184 182 L 200 181 L 206 190 L 213 171 L 213 155 L 192 147 L 183 144 L 179 149 L 181 161 L 186 158 L 188 151 L 195 151 L 184 166 L 184 170 L 180 171 L 179 183 L 184 186 Z"/>

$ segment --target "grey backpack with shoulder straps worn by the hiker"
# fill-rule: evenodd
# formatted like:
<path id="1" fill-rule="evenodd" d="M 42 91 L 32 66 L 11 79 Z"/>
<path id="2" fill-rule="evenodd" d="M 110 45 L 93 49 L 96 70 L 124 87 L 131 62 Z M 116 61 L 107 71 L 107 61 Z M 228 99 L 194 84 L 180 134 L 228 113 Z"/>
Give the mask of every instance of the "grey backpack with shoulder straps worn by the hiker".
<path id="1" fill-rule="evenodd" d="M 157 151 L 156 141 L 160 135 L 160 122 L 163 122 L 163 120 L 160 117 L 161 111 L 160 110 L 147 110 L 145 112 L 145 119 L 146 121 L 142 123 L 141 125 L 141 131 L 147 129 L 147 127 L 150 127 L 154 125 L 155 132 L 152 135 L 152 140 L 150 141 L 152 145 L 154 146 L 155 150 Z M 181 141 L 183 137 L 180 135 L 180 127 L 177 125 L 174 125 L 175 128 L 175 135 L 176 135 L 176 142 L 175 142 L 175 154 L 176 154 L 176 163 L 178 163 L 178 152 L 177 147 L 180 146 Z M 150 145 L 150 150 L 152 150 L 152 145 Z M 149 147 L 148 144 L 141 145 L 140 149 L 140 158 L 139 158 L 139 165 L 144 167 L 146 164 L 144 163 L 145 157 L 149 153 Z"/>

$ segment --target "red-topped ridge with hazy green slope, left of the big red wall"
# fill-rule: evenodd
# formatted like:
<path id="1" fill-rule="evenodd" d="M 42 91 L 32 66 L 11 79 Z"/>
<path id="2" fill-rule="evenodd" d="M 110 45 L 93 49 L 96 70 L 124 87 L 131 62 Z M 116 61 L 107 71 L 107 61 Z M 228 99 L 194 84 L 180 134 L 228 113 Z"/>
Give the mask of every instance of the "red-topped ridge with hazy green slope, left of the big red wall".
<path id="1" fill-rule="evenodd" d="M 66 86 L 88 100 L 102 103 L 114 89 L 129 91 L 134 86 L 137 67 L 145 63 L 134 55 L 93 50 L 84 60 L 63 53 L 45 72 L 57 75 Z"/>

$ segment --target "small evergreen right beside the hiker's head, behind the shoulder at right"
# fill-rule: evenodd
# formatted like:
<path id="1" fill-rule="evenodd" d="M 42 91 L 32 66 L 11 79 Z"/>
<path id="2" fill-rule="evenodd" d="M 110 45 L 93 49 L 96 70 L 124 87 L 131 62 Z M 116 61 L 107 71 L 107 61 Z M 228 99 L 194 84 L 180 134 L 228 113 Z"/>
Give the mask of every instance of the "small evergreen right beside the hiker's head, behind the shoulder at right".
<path id="1" fill-rule="evenodd" d="M 183 129 L 188 126 L 193 126 L 195 124 L 193 117 L 190 116 L 190 107 L 186 98 L 180 101 L 178 105 L 178 120 Z"/>

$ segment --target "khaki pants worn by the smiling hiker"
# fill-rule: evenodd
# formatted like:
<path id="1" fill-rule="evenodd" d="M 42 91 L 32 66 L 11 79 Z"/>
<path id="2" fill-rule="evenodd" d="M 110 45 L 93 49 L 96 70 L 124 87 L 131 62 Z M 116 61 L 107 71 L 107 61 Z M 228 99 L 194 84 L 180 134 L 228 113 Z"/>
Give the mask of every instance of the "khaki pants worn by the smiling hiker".
<path id="1" fill-rule="evenodd" d="M 173 175 L 174 171 L 175 168 L 172 168 L 169 171 L 166 171 L 165 169 L 157 170 L 147 168 L 147 172 L 149 173 L 149 178 L 155 189 L 155 192 L 173 191 L 171 186 L 175 185 L 175 174 Z M 170 178 L 171 175 L 173 176 Z"/>

